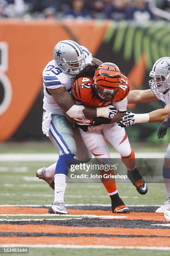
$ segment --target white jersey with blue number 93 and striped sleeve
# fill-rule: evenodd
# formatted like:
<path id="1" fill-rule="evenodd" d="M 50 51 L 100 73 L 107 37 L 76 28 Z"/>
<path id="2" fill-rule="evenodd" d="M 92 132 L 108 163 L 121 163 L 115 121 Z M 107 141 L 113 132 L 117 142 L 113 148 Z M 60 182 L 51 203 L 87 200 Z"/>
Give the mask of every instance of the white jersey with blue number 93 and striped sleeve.
<path id="1" fill-rule="evenodd" d="M 91 52 L 84 46 L 80 46 L 85 54 L 85 63 L 92 62 Z M 71 90 L 74 77 L 70 74 L 64 73 L 55 63 L 54 60 L 50 61 L 42 72 L 44 99 L 43 109 L 54 114 L 63 115 L 62 109 L 57 105 L 52 95 L 46 89 L 57 89 L 65 87 L 67 91 Z"/>

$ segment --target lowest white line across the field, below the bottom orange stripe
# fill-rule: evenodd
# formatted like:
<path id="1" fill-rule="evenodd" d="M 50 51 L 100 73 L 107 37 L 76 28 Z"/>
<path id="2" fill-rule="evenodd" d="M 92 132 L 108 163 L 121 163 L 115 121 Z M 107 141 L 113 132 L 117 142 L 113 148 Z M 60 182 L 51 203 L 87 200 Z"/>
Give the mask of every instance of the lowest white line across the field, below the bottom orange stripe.
<path id="1" fill-rule="evenodd" d="M 170 247 L 156 247 L 156 246 L 78 246 L 78 245 L 62 245 L 62 244 L 0 244 L 0 247 L 29 247 L 29 248 L 72 248 L 72 249 L 140 249 L 140 250 L 160 250 L 170 251 Z"/>

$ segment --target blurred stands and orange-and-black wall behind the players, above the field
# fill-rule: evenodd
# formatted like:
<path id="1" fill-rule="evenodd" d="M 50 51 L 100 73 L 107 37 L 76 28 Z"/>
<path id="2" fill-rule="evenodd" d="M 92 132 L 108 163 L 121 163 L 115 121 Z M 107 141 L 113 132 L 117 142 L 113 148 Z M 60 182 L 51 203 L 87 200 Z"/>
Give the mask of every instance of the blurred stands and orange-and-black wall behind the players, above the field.
<path id="1" fill-rule="evenodd" d="M 53 14 L 45 15 L 49 9 Z M 169 11 L 169 0 L 0 0 L 0 141 L 47 141 L 42 70 L 57 41 L 85 45 L 103 62 L 115 62 L 131 90 L 147 89 L 153 63 L 170 56 Z M 136 113 L 156 108 L 161 103 L 129 105 Z M 141 124 L 127 132 L 131 141 L 156 143 L 158 127 Z"/>

